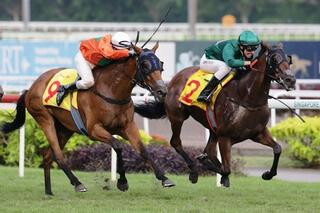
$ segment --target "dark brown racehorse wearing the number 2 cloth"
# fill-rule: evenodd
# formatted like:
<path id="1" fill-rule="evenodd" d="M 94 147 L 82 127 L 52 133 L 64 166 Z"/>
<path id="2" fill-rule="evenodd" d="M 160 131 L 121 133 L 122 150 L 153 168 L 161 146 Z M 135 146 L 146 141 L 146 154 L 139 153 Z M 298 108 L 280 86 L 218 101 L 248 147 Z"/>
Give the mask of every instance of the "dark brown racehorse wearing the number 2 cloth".
<path id="1" fill-rule="evenodd" d="M 270 171 L 262 178 L 272 179 L 277 174 L 277 166 L 281 146 L 273 140 L 266 125 L 269 120 L 268 94 L 271 80 L 275 80 L 286 89 L 293 89 L 295 77 L 290 70 L 290 63 L 282 46 L 269 48 L 263 46 L 257 56 L 258 62 L 250 72 L 229 82 L 217 97 L 214 114 L 217 128 L 210 130 L 210 137 L 205 148 L 205 154 L 200 155 L 200 162 L 208 169 L 222 175 L 221 184 L 229 187 L 231 163 L 231 146 L 246 139 L 273 148 L 274 160 Z M 204 127 L 210 129 L 206 113 L 194 106 L 179 102 L 179 96 L 188 78 L 199 67 L 188 67 L 177 73 L 168 85 L 168 93 L 164 103 L 149 102 L 135 106 L 135 111 L 148 118 L 158 119 L 167 116 L 171 122 L 171 145 L 183 157 L 190 168 L 189 180 L 196 183 L 198 172 L 195 163 L 185 153 L 181 145 L 180 132 L 183 122 L 191 115 Z M 222 162 L 216 157 L 216 145 L 222 157 Z"/>

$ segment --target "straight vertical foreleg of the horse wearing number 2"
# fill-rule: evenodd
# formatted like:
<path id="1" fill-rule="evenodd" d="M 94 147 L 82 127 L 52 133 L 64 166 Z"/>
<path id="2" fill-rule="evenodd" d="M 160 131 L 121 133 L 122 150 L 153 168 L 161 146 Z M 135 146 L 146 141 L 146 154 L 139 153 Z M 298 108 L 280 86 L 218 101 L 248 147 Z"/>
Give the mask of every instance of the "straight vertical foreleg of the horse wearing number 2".
<path id="1" fill-rule="evenodd" d="M 219 138 L 219 149 L 222 160 L 222 171 L 220 183 L 225 186 L 230 186 L 229 175 L 231 173 L 231 141 L 229 138 Z"/>

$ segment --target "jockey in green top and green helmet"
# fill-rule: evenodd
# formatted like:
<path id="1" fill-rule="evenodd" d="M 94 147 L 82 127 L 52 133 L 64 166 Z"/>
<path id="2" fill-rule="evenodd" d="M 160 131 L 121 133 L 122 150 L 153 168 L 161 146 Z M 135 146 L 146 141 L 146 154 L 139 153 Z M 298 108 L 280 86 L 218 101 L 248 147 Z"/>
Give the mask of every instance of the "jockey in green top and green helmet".
<path id="1" fill-rule="evenodd" d="M 198 101 L 210 102 L 213 89 L 232 68 L 250 66 L 253 55 L 261 44 L 252 31 L 243 31 L 238 39 L 219 41 L 205 49 L 200 60 L 200 69 L 214 73 L 208 85 L 201 91 Z"/>

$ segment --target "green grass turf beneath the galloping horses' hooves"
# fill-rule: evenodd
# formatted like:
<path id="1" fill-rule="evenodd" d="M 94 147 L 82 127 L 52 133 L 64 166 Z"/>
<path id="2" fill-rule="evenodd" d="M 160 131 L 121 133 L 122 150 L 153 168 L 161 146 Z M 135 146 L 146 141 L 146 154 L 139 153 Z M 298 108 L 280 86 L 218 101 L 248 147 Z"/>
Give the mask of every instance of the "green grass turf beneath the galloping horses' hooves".
<path id="1" fill-rule="evenodd" d="M 60 170 L 52 171 L 53 193 L 45 196 L 41 169 L 0 167 L 0 212 L 318 212 L 320 184 L 231 176 L 231 188 L 215 187 L 215 177 L 169 177 L 164 189 L 153 174 L 129 174 L 129 191 L 103 190 L 105 172 L 75 172 L 88 192 L 76 193 Z"/>

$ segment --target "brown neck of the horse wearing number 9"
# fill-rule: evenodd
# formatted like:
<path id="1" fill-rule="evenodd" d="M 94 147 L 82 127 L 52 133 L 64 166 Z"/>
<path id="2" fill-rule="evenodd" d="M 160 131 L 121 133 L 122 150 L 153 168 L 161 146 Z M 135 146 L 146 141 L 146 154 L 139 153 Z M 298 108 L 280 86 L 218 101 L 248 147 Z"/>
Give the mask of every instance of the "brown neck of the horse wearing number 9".
<path id="1" fill-rule="evenodd" d="M 99 68 L 94 72 L 95 89 L 107 97 L 126 99 L 131 96 L 135 73 L 134 58 Z"/>

